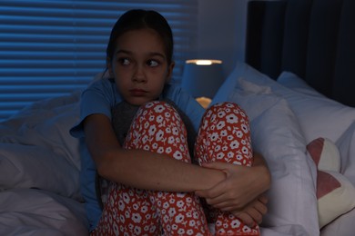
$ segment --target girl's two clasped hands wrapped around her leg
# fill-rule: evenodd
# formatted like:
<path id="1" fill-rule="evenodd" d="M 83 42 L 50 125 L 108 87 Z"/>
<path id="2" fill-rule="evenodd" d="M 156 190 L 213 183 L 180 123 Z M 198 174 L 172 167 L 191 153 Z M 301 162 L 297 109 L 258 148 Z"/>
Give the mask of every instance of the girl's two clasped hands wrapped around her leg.
<path id="1" fill-rule="evenodd" d="M 252 167 L 225 162 L 211 162 L 204 166 L 226 172 L 227 178 L 209 190 L 197 191 L 198 196 L 204 197 L 215 208 L 231 211 L 249 227 L 262 221 L 268 211 L 268 198 L 264 192 L 269 190 L 271 176 L 267 162 L 259 153 L 254 153 Z"/>

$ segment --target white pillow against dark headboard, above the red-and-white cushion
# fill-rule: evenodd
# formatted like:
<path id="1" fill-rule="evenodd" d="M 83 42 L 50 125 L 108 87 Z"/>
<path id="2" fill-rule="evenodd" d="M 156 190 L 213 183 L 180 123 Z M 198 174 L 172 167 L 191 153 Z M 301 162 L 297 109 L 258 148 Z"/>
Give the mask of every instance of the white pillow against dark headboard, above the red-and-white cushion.
<path id="1" fill-rule="evenodd" d="M 327 137 L 336 142 L 355 121 L 355 108 L 338 103 L 310 88 L 296 74 L 284 72 L 278 83 L 289 90 L 273 86 L 273 91 L 281 93 L 299 118 L 307 142 L 318 137 Z M 292 86 L 297 84 L 296 88 Z"/>

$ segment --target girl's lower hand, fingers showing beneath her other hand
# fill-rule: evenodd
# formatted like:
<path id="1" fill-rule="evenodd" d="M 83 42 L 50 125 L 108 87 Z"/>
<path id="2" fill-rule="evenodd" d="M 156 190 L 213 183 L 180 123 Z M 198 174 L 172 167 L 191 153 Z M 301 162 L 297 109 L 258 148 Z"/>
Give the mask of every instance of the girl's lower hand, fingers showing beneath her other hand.
<path id="1" fill-rule="evenodd" d="M 252 228 L 256 223 L 261 223 L 262 217 L 268 211 L 267 203 L 268 198 L 265 194 L 262 194 L 258 199 L 247 204 L 241 211 L 231 211 L 231 213 Z"/>

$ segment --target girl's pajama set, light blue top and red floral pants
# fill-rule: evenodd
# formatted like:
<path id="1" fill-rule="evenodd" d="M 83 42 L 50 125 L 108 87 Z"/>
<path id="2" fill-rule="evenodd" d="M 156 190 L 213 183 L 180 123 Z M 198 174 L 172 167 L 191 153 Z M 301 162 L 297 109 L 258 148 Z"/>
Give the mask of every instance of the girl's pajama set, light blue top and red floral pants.
<path id="1" fill-rule="evenodd" d="M 248 117 L 235 103 L 219 103 L 205 113 L 187 93 L 167 85 L 160 100 L 131 107 L 128 113 L 135 113 L 134 117 L 126 116 L 128 122 L 117 124 L 122 116 L 117 116 L 115 109 L 120 103 L 129 106 L 122 102 L 114 81 L 96 82 L 83 93 L 80 121 L 91 113 L 106 114 L 123 148 L 164 153 L 181 162 L 191 162 L 188 133 L 198 130 L 194 155 L 199 164 L 252 164 Z M 128 129 L 127 123 L 131 123 Z M 71 133 L 84 142 L 82 129 L 80 122 Z M 82 192 L 92 235 L 210 235 L 208 221 L 215 223 L 216 235 L 259 235 L 258 226 L 250 229 L 228 212 L 204 207 L 193 192 L 145 191 L 109 182 L 101 211 L 95 164 L 84 143 L 81 148 Z"/>

